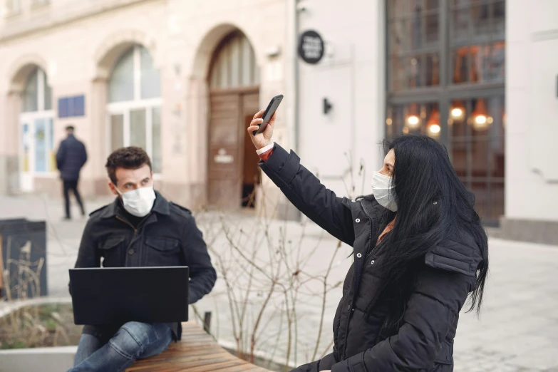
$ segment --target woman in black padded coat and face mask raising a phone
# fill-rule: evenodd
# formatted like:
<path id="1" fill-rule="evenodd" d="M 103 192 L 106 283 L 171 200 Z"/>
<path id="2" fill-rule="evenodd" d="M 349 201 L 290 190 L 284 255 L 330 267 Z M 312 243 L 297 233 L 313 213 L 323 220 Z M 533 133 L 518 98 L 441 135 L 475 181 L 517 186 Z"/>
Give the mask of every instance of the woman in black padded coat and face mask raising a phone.
<path id="1" fill-rule="evenodd" d="M 294 371 L 453 371 L 459 312 L 469 294 L 470 310 L 480 311 L 488 246 L 443 145 L 396 138 L 374 172 L 373 195 L 348 200 L 272 143 L 274 121 L 250 135 L 260 167 L 301 212 L 354 249 L 333 353 Z"/>

